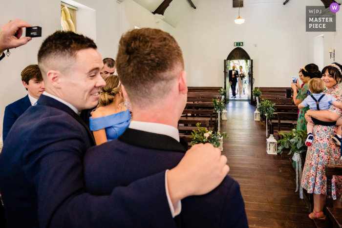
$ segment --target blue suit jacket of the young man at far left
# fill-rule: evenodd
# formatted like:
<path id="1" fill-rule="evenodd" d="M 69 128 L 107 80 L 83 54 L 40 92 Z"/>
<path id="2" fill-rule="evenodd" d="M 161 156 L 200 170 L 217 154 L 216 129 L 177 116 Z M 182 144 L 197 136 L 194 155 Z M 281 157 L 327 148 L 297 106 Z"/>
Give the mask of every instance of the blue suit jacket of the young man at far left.
<path id="1" fill-rule="evenodd" d="M 8 104 L 5 108 L 5 115 L 3 116 L 2 140 L 5 142 L 7 134 L 16 120 L 24 113 L 27 108 L 31 106 L 28 95 L 19 99 L 12 104 Z"/>

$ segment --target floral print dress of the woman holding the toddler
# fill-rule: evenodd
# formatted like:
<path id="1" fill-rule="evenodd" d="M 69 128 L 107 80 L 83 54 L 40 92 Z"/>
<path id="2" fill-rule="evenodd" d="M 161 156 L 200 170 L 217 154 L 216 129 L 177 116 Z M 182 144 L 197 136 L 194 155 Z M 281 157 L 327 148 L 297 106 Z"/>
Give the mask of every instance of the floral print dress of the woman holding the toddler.
<path id="1" fill-rule="evenodd" d="M 337 84 L 325 90 L 324 94 L 333 95 L 342 103 L 342 85 Z M 342 111 L 330 105 L 329 111 L 338 113 L 342 117 Z M 308 147 L 301 186 L 308 193 L 326 194 L 325 165 L 342 165 L 341 148 L 336 146 L 332 137 L 336 134 L 337 126 L 315 125 L 314 140 Z M 333 176 L 332 197 L 342 201 L 342 176 Z"/>

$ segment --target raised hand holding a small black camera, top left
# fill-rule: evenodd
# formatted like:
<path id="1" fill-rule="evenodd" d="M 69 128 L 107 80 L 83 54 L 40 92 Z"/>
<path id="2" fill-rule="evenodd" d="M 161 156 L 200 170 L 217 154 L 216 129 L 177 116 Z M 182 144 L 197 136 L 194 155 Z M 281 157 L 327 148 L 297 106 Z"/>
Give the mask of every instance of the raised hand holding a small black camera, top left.
<path id="1" fill-rule="evenodd" d="M 0 53 L 7 49 L 24 45 L 28 41 L 32 40 L 31 37 L 20 38 L 23 27 L 32 27 L 32 25 L 25 21 L 15 19 L 2 26 L 0 31 Z"/>

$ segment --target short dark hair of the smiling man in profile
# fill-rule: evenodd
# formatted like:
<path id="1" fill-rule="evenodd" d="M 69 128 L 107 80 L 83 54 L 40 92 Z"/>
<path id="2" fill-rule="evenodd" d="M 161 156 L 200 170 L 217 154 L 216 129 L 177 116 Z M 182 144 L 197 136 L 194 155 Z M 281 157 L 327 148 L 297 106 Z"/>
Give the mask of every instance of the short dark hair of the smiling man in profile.
<path id="1" fill-rule="evenodd" d="M 38 65 L 45 75 L 49 69 L 45 69 L 46 62 L 56 70 L 65 71 L 73 63 L 71 58 L 75 58 L 78 51 L 97 46 L 93 40 L 74 32 L 57 31 L 48 36 L 42 43 L 38 51 Z"/>

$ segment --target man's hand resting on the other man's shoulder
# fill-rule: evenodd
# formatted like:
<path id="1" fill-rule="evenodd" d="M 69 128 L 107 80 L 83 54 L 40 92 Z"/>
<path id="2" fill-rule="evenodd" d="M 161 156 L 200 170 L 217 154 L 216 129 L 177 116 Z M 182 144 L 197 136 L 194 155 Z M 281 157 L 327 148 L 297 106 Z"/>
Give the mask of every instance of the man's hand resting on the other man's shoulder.
<path id="1" fill-rule="evenodd" d="M 168 172 L 168 188 L 172 203 L 191 196 L 203 195 L 217 187 L 229 172 L 227 158 L 211 144 L 198 144 L 189 149 L 180 163 Z"/>

